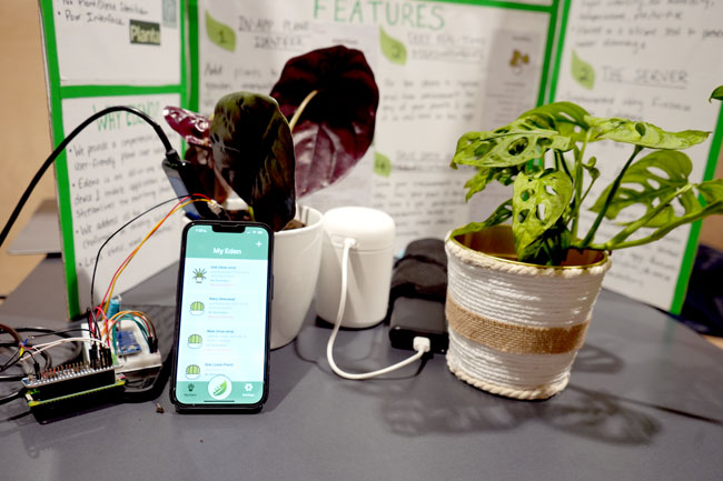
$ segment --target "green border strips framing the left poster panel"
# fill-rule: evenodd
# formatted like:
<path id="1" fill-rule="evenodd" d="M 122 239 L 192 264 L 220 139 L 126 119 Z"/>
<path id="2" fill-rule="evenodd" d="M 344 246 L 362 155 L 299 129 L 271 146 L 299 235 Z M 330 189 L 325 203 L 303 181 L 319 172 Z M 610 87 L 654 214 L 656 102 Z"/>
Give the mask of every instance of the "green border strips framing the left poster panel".
<path id="1" fill-rule="evenodd" d="M 53 146 L 59 146 L 66 138 L 63 129 L 62 101 L 66 99 L 103 98 L 119 96 L 152 96 L 160 93 L 177 93 L 181 107 L 188 104 L 188 80 L 186 76 L 186 20 L 185 9 L 188 0 L 178 0 L 179 42 L 180 42 L 180 76 L 178 84 L 165 86 L 60 86 L 60 64 L 58 44 L 56 41 L 56 10 L 52 0 L 40 0 L 40 17 L 42 19 L 42 36 L 44 42 L 46 76 L 48 80 L 49 108 L 52 128 Z M 68 313 L 71 319 L 82 313 L 78 300 L 78 277 L 76 273 L 76 251 L 73 237 L 73 220 L 70 208 L 70 179 L 68 176 L 68 159 L 66 152 L 60 152 L 55 162 L 56 189 L 59 206 L 61 229 L 61 245 L 66 290 L 68 294 Z"/>

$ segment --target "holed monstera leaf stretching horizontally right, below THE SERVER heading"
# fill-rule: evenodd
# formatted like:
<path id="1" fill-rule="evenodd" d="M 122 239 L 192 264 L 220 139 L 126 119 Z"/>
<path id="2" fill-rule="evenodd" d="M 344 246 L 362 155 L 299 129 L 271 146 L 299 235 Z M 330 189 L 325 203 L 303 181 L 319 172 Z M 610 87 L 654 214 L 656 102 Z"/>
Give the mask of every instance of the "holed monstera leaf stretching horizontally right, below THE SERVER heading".
<path id="1" fill-rule="evenodd" d="M 687 149 L 705 141 L 710 133 L 701 130 L 667 132 L 652 123 L 627 119 L 591 117 L 587 120 L 591 124 L 592 141 L 614 140 L 651 149 Z"/>

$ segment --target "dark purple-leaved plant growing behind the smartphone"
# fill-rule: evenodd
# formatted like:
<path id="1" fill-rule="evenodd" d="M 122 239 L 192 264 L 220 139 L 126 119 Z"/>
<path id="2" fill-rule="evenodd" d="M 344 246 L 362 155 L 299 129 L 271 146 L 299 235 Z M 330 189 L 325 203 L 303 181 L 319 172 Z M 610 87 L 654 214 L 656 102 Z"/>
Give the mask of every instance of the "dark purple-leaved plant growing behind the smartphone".
<path id="1" fill-rule="evenodd" d="M 364 53 L 343 46 L 290 59 L 270 96 L 229 93 L 212 120 L 167 107 L 206 191 L 236 192 L 248 217 L 283 230 L 296 199 L 345 177 L 374 139 L 379 91 Z"/>

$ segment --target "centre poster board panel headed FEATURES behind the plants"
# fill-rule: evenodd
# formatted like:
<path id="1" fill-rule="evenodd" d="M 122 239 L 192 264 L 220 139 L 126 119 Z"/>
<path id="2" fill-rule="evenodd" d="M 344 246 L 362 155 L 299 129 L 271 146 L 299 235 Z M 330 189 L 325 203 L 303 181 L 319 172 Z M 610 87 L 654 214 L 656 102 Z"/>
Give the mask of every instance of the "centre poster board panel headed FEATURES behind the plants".
<path id="1" fill-rule="evenodd" d="M 361 50 L 379 87 L 374 146 L 348 177 L 299 201 L 384 210 L 400 251 L 496 207 L 467 204 L 471 171 L 449 161 L 465 131 L 544 100 L 556 19 L 556 1 L 194 0 L 191 109 L 210 114 L 230 90 L 269 93 L 286 61 L 307 51 Z"/>

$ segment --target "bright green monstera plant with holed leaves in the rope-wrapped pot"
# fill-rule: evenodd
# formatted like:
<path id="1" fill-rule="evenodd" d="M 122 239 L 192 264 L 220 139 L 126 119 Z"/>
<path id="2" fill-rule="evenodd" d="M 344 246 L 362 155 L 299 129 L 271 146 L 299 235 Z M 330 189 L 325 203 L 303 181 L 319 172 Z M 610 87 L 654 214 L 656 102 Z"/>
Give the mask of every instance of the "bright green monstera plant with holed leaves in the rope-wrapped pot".
<path id="1" fill-rule="evenodd" d="M 720 88 L 716 92 L 723 93 Z M 457 142 L 452 167 L 476 168 L 465 184 L 467 200 L 493 181 L 512 186 L 512 197 L 485 221 L 459 228 L 452 236 L 512 220 L 517 260 L 543 265 L 558 265 L 570 249 L 612 251 L 653 242 L 679 226 L 723 213 L 723 180 L 691 182 L 693 164 L 680 151 L 707 136 L 697 130 L 667 132 L 646 122 L 595 118 L 570 102 L 529 110 L 491 132 L 465 133 Z M 601 141 L 631 144 L 632 153 L 590 208 L 596 214 L 591 228 L 580 232 L 583 203 L 601 178 L 598 169 L 606 167 L 604 159 L 587 157 L 586 149 Z M 647 154 L 640 158 L 643 152 Z M 632 206 L 638 206 L 636 219 L 618 223 L 617 233 L 610 239 L 596 238 L 603 221 L 615 221 Z"/>

